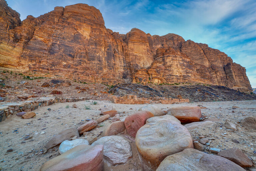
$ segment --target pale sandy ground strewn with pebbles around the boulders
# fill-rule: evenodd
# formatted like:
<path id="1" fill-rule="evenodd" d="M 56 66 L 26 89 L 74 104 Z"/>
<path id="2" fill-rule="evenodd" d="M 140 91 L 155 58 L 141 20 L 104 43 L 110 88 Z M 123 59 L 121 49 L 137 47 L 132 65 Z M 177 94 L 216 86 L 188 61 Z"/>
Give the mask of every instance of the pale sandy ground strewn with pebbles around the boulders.
<path id="1" fill-rule="evenodd" d="M 109 101 L 97 101 L 98 104 L 92 105 L 91 101 L 75 102 L 78 108 L 73 108 L 74 103 L 58 103 L 51 106 L 40 107 L 34 112 L 35 118 L 22 119 L 18 116 L 12 116 L 9 119 L 0 123 L 0 170 L 1 171 L 37 171 L 41 165 L 59 155 L 58 146 L 50 149 L 47 153 L 46 143 L 62 130 L 68 128 L 77 128 L 81 121 L 85 119 L 99 118 L 100 108 L 105 105 L 111 105 L 120 113 L 122 119 L 125 115 L 134 113 L 143 105 L 127 105 L 127 104 L 113 104 Z M 66 106 L 69 105 L 69 108 Z M 90 105 L 91 110 L 86 110 L 85 105 Z M 155 104 L 156 106 L 167 110 L 174 106 L 197 106 L 202 105 L 207 107 L 202 109 L 202 114 L 208 116 L 208 120 L 214 120 L 214 126 L 197 128 L 190 131 L 192 138 L 198 139 L 200 135 L 213 138 L 210 148 L 215 147 L 221 150 L 236 147 L 241 149 L 248 157 L 255 158 L 256 153 L 256 132 L 238 124 L 238 131 L 226 132 L 222 125 L 225 121 L 236 123 L 247 116 L 256 116 L 256 100 L 252 101 L 224 101 L 224 102 L 196 102 L 183 104 Z M 232 106 L 238 106 L 238 109 L 232 109 Z M 47 109 L 51 108 L 51 111 Z M 125 112 L 125 113 L 123 113 Z M 80 123 L 80 124 L 79 124 Z M 94 128 L 91 132 L 94 134 L 104 131 L 104 129 L 111 123 L 110 120 L 102 122 L 101 127 Z M 17 130 L 17 131 L 15 131 Z M 44 134 L 41 134 L 45 132 Z M 227 134 L 224 134 L 224 133 Z M 35 133 L 39 133 L 35 135 Z M 26 136 L 32 136 L 31 139 L 24 140 Z M 99 136 L 98 138 L 100 138 Z M 226 137 L 226 138 L 224 138 Z M 236 144 L 232 139 L 237 139 L 240 143 Z M 112 166 L 105 163 L 105 171 L 141 171 L 140 162 L 137 155 L 135 142 L 127 139 L 131 146 L 133 157 L 127 161 L 126 164 Z M 251 144 L 251 145 L 249 145 Z M 252 145 L 253 144 L 253 145 Z M 13 151 L 6 153 L 8 149 Z M 205 152 L 210 153 L 205 150 Z"/>

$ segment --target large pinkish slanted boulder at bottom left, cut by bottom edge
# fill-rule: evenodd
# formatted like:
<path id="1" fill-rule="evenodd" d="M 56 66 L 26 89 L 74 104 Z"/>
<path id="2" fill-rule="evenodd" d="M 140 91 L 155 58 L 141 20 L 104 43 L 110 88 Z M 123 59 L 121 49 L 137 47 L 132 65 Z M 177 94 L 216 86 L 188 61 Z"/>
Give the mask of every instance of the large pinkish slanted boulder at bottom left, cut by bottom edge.
<path id="1" fill-rule="evenodd" d="M 103 171 L 103 145 L 79 145 L 45 162 L 40 171 Z"/>

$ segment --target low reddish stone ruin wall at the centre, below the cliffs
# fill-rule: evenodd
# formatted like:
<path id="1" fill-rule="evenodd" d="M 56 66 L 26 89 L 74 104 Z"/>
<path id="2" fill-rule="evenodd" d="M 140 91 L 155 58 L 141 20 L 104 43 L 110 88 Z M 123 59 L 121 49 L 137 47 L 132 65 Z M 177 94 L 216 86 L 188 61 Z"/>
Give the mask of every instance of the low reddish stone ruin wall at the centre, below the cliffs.
<path id="1" fill-rule="evenodd" d="M 145 104 L 145 103 L 162 103 L 162 104 L 174 104 L 189 102 L 189 99 L 173 99 L 164 97 L 152 97 L 152 98 L 137 98 L 136 95 L 126 95 L 123 97 L 112 96 L 110 97 L 113 103 L 119 104 Z"/>

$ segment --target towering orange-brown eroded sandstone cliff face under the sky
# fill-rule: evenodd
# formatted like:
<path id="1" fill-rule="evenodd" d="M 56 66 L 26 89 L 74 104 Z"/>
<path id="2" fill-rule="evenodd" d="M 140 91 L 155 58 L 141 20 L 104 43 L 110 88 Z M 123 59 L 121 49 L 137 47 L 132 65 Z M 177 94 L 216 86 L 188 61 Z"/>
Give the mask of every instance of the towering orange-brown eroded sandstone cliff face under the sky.
<path id="1" fill-rule="evenodd" d="M 190 82 L 251 91 L 245 68 L 225 53 L 176 34 L 113 32 L 93 6 L 55 7 L 22 22 L 4 0 L 0 7 L 2 67 L 85 82 Z"/>

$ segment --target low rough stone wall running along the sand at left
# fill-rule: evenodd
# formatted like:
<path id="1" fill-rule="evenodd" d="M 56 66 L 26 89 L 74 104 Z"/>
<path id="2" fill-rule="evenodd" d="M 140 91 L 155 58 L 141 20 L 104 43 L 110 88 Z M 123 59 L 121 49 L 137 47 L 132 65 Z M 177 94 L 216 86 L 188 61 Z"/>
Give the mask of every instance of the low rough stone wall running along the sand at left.
<path id="1" fill-rule="evenodd" d="M 59 102 L 77 102 L 83 100 L 89 100 L 89 98 L 41 97 L 39 99 L 37 98 L 17 103 L 10 102 L 0 104 L 0 122 L 4 121 L 9 115 L 15 115 L 19 112 L 30 112 L 40 106 L 49 106 Z"/>

